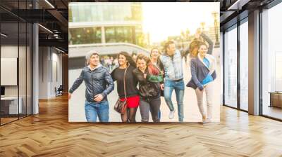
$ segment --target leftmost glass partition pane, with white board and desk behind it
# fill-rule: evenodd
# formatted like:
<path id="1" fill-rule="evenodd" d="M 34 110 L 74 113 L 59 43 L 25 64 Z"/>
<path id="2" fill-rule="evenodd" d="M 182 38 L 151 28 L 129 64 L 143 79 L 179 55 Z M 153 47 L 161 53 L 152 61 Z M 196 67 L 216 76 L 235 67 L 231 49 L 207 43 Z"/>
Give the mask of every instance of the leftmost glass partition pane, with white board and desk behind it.
<path id="1" fill-rule="evenodd" d="M 23 111 L 18 104 L 18 29 L 18 22 L 1 23 L 1 125 L 17 120 Z"/>

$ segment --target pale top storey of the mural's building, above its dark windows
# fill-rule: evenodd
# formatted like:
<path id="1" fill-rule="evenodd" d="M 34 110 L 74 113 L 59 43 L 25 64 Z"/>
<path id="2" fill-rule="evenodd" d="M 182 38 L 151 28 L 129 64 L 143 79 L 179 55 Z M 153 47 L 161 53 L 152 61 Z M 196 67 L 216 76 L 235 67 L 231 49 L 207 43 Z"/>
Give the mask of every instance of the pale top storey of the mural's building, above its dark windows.
<path id="1" fill-rule="evenodd" d="M 72 3 L 69 22 L 141 21 L 140 3 Z"/>

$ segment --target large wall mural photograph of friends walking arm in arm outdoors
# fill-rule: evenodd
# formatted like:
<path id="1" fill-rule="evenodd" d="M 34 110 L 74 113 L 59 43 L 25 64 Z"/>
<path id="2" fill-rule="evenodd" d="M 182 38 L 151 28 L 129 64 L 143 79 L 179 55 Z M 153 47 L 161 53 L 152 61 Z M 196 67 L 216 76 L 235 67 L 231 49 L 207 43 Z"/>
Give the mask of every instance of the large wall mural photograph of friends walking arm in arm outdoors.
<path id="1" fill-rule="evenodd" d="M 219 122 L 219 3 L 69 3 L 69 122 Z"/>

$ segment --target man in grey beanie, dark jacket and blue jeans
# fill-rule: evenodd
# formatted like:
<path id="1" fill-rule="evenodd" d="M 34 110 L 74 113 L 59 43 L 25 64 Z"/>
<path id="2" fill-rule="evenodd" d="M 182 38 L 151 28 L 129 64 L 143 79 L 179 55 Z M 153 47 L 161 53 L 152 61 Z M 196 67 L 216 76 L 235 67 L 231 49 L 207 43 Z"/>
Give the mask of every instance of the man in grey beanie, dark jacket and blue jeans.
<path id="1" fill-rule="evenodd" d="M 68 99 L 72 93 L 85 81 L 85 116 L 87 122 L 109 122 L 109 103 L 107 95 L 114 90 L 114 81 L 108 69 L 99 62 L 99 55 L 91 51 L 85 56 L 87 67 L 84 67 L 80 76 L 69 90 Z"/>

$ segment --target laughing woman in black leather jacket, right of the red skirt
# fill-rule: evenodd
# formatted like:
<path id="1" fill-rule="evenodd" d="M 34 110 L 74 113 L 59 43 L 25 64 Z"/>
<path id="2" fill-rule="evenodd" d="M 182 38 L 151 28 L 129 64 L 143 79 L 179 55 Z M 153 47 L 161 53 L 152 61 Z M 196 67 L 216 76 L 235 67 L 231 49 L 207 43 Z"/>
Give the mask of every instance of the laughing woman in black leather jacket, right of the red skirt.
<path id="1" fill-rule="evenodd" d="M 133 74 L 139 82 L 140 113 L 142 122 L 149 121 L 151 111 L 154 122 L 159 122 L 160 82 L 163 81 L 161 71 L 152 64 L 149 57 L 139 54 L 136 58 L 137 68 Z"/>

